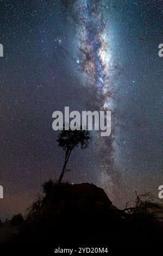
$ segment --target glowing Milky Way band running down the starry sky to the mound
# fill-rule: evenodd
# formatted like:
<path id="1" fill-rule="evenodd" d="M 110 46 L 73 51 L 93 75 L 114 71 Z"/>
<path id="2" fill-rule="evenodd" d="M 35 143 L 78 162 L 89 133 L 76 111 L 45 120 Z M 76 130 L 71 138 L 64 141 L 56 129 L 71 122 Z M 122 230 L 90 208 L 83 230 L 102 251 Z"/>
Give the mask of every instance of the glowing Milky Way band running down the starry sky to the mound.
<path id="1" fill-rule="evenodd" d="M 111 135 L 109 138 L 97 137 L 98 146 L 96 150 L 101 156 L 101 174 L 102 183 L 106 191 L 113 196 L 112 184 L 113 176 L 117 175 L 116 164 L 114 161 L 115 154 L 115 115 L 112 100 L 114 96 L 114 85 L 111 83 L 110 69 L 112 66 L 111 52 L 108 35 L 108 16 L 106 11 L 108 5 L 106 1 L 76 1 L 73 5 L 73 17 L 78 24 L 78 65 L 79 70 L 85 77 L 84 85 L 90 91 L 96 92 L 95 100 L 90 102 L 89 107 L 99 110 L 110 110 L 111 117 Z M 95 135 L 97 136 L 97 135 Z"/>

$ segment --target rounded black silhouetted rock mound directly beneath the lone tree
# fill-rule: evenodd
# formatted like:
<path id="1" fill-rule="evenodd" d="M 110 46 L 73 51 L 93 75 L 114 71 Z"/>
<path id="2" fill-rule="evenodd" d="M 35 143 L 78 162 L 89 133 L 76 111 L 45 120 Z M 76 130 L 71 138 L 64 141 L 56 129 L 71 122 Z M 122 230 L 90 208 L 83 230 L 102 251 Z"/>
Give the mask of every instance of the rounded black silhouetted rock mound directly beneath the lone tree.
<path id="1" fill-rule="evenodd" d="M 124 222 L 121 211 L 112 205 L 104 190 L 93 184 L 60 184 L 43 199 L 34 222 L 24 229 L 30 243 L 86 245 L 108 240 L 106 233 Z M 27 237 L 27 234 L 30 234 Z M 105 239 L 104 239 L 105 237 Z"/>

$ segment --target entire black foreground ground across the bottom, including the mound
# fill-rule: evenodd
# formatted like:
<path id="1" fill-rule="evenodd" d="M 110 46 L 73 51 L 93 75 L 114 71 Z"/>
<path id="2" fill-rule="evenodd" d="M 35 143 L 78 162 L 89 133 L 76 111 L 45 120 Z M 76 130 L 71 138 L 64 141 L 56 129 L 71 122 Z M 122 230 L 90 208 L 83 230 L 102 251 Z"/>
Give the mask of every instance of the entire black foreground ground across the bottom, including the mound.
<path id="1" fill-rule="evenodd" d="M 9 233 L 7 239 L 3 232 Z M 0 227 L 4 251 L 130 246 L 154 249 L 162 244 L 162 238 L 162 225 L 147 212 L 126 214 L 112 205 L 102 188 L 87 183 L 54 186 L 35 216 L 31 215 L 21 227 L 10 227 L 9 223 Z"/>

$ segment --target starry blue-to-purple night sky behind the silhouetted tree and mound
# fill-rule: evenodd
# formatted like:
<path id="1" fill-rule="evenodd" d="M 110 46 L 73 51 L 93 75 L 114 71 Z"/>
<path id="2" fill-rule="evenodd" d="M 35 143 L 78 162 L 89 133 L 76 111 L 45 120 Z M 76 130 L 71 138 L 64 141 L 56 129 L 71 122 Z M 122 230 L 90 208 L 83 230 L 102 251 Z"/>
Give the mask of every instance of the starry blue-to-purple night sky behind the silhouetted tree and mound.
<path id="1" fill-rule="evenodd" d="M 91 132 L 65 181 L 104 188 L 123 208 L 134 191 L 162 185 L 163 1 L 0 1 L 0 218 L 33 202 L 58 179 L 64 151 L 52 113 L 112 112 L 112 132 Z"/>

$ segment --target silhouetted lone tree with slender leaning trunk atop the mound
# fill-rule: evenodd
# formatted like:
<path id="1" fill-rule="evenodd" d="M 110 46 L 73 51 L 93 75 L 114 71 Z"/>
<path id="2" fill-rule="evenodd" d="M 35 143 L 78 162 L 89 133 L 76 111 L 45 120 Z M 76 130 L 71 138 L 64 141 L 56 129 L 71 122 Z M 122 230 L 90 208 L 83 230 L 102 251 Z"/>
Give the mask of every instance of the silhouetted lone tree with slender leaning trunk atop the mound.
<path id="1" fill-rule="evenodd" d="M 59 144 L 59 147 L 65 150 L 65 162 L 64 166 L 62 168 L 62 172 L 58 181 L 58 184 L 60 184 L 65 172 L 66 172 L 66 165 L 68 163 L 70 154 L 72 150 L 80 144 L 81 149 L 85 149 L 89 145 L 89 139 L 90 139 L 90 133 L 89 131 L 83 131 L 81 130 L 74 130 L 72 131 L 69 129 L 68 131 L 64 130 L 61 131 L 61 133 L 58 136 L 57 142 Z M 68 171 L 68 170 L 67 170 Z"/>

